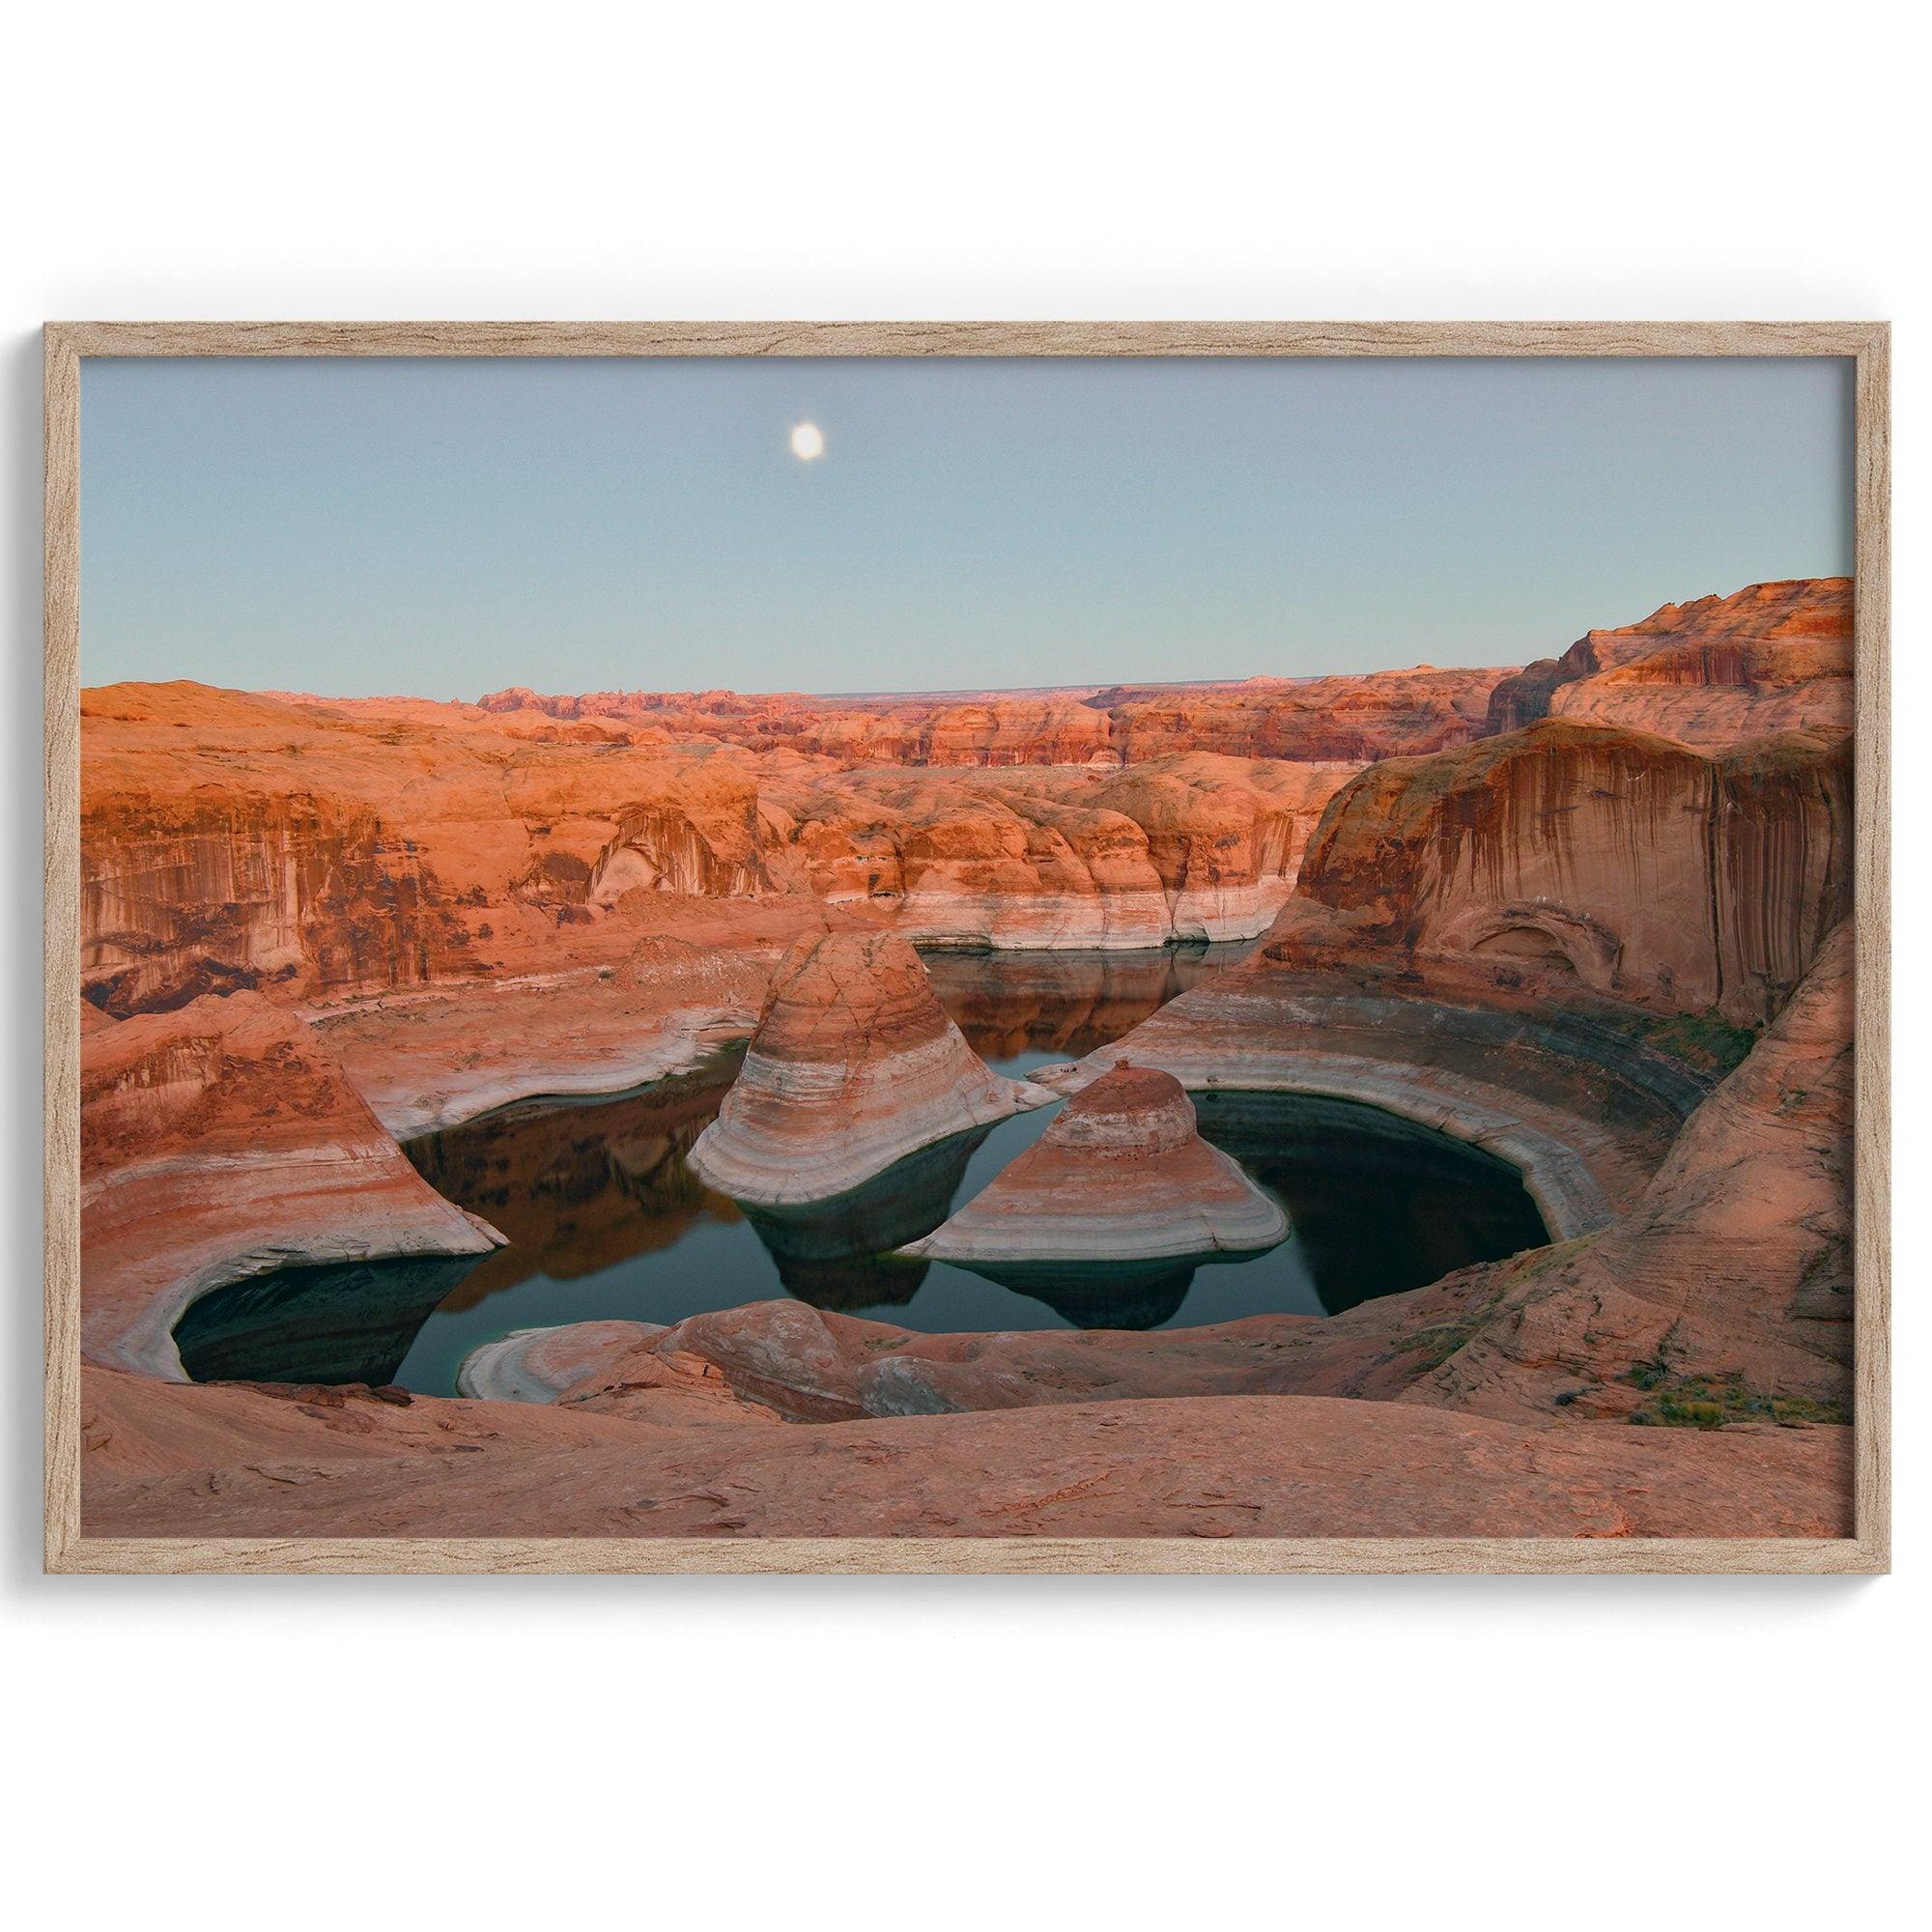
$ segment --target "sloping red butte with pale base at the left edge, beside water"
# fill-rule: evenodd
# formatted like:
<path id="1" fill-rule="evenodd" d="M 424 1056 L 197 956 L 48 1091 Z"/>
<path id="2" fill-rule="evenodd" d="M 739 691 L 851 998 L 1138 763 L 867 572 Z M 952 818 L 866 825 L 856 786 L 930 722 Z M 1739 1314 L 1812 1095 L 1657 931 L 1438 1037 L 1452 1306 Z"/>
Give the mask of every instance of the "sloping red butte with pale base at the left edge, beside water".
<path id="1" fill-rule="evenodd" d="M 315 1036 L 255 993 L 81 1047 L 81 1352 L 182 1378 L 209 1289 L 303 1262 L 479 1256 L 502 1236 L 404 1159 Z"/>

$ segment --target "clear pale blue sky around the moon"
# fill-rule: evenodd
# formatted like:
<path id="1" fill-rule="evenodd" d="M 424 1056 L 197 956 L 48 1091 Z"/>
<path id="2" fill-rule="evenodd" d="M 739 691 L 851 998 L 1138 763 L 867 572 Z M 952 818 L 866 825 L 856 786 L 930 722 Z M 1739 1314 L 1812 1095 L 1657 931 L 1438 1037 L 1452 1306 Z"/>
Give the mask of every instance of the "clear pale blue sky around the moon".
<path id="1" fill-rule="evenodd" d="M 792 454 L 813 423 L 823 454 Z M 1513 665 L 1851 572 L 1841 359 L 91 359 L 81 676 Z"/>

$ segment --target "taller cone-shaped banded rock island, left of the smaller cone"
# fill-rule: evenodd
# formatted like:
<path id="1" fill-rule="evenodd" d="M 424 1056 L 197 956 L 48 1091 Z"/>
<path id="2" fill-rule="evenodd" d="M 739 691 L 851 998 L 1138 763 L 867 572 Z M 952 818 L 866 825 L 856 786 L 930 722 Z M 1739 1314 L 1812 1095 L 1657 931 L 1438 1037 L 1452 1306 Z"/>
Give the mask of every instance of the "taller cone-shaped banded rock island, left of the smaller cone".
<path id="1" fill-rule="evenodd" d="M 985 1066 L 904 939 L 829 933 L 786 954 L 690 1165 L 734 1200 L 829 1200 L 935 1140 L 1051 1097 Z"/>

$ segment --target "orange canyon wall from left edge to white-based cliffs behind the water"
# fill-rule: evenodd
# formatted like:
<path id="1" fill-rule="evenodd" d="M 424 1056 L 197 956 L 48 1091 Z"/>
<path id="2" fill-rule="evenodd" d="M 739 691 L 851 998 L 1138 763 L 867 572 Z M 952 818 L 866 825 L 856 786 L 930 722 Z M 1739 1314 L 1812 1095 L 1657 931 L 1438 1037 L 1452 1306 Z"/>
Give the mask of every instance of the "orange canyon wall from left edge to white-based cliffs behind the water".
<path id="1" fill-rule="evenodd" d="M 1094 713 L 1088 713 L 1094 715 Z M 128 1016 L 614 964 L 636 895 L 804 898 L 906 937 L 1252 937 L 1356 767 L 848 767 L 527 715 L 207 686 L 83 697 L 83 987 Z"/>

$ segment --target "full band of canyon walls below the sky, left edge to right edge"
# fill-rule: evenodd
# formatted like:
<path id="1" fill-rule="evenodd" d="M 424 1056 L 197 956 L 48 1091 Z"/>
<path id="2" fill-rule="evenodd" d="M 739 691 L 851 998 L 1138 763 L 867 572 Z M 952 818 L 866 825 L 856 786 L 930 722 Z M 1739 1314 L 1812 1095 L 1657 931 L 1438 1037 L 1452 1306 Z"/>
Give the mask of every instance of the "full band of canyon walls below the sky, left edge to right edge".
<path id="1" fill-rule="evenodd" d="M 1551 813 L 1571 806 L 1482 746 L 1524 721 L 1638 726 L 1679 748 L 1843 724 L 1849 624 L 1849 582 L 1816 580 L 1665 605 L 1522 672 L 916 697 L 510 690 L 477 705 L 89 690 L 83 987 L 128 1016 L 236 987 L 319 999 L 616 964 L 638 937 L 638 895 L 804 898 L 931 947 L 1244 939 L 1289 900 L 1323 808 L 1364 761 L 1383 761 L 1381 777 L 1358 781 L 1347 837 L 1321 858 L 1320 896 L 1343 893 L 1335 902 L 1360 898 L 1383 864 L 1364 831 L 1374 800 L 1401 792 L 1412 815 L 1406 767 L 1445 757 L 1416 782 L 1457 794 L 1445 827 L 1474 813 L 1457 833 L 1472 881 L 1424 891 L 1391 873 L 1391 891 L 1430 900 L 1418 941 L 1567 958 L 1592 985 L 1760 1010 L 1808 956 L 1808 929 L 1779 908 L 1793 891 L 1822 904 L 1812 873 L 1835 866 L 1843 786 L 1806 792 L 1791 769 L 1801 752 L 1737 765 L 1714 792 L 1700 790 L 1704 765 L 1652 750 L 1638 755 L 1652 782 L 1573 740 L 1577 786 L 1604 757 L 1609 790 L 1625 786 L 1625 831 L 1611 811 L 1605 838 L 1654 838 L 1704 810 L 1729 867 L 1698 912 L 1694 867 L 1636 856 L 1604 887 L 1605 904 L 1627 906 L 1605 923 L 1565 871 L 1580 846 Z M 1476 763 L 1455 763 L 1464 753 Z M 1536 794 L 1520 810 L 1507 804 L 1515 784 Z M 1600 810 L 1584 790 L 1578 825 Z M 1493 811 L 1480 804 L 1492 794 Z M 1559 854 L 1549 877 L 1546 854 Z M 1747 896 L 1727 896 L 1733 883 Z M 1519 900 L 1542 906 L 1536 920 L 1451 929 Z M 1604 929 L 1565 927 L 1551 906 Z M 1723 927 L 1710 970 L 1687 937 L 1700 922 Z M 1636 972 L 1640 954 L 1663 978 Z"/>

